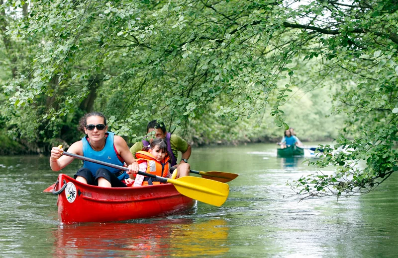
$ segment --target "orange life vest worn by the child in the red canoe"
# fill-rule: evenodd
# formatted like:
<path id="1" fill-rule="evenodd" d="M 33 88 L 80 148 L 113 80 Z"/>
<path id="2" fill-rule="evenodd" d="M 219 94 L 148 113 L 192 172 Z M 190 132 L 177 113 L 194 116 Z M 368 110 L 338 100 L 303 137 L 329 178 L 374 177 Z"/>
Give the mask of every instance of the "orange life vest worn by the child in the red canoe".
<path id="1" fill-rule="evenodd" d="M 157 161 L 155 159 L 155 157 L 147 152 L 147 151 L 137 151 L 137 153 L 135 153 L 135 156 L 137 157 L 137 162 L 138 164 L 141 164 L 143 162 L 147 162 L 146 163 L 146 173 L 148 174 L 153 174 L 159 177 L 166 177 L 168 172 L 169 172 L 169 160 L 170 157 L 166 156 L 164 158 L 164 160 L 162 160 L 161 162 Z M 149 181 L 148 181 L 149 180 Z M 148 186 L 150 185 L 150 183 L 148 184 L 148 182 L 152 182 L 153 185 L 159 185 L 161 184 L 160 182 L 157 182 L 156 179 L 153 178 L 148 178 L 145 177 L 144 182 L 142 182 L 143 186 Z"/>

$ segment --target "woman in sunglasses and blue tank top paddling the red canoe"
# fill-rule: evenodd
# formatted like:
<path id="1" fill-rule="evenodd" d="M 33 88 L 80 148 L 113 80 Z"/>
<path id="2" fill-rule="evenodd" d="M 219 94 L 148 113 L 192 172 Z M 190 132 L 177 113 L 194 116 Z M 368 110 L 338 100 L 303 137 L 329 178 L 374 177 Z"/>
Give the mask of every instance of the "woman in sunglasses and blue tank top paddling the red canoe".
<path id="1" fill-rule="evenodd" d="M 108 132 L 105 117 L 99 112 L 86 114 L 80 119 L 79 129 L 86 133 L 80 140 L 73 143 L 68 152 L 92 159 L 123 166 L 128 165 L 128 174 L 137 174 L 138 162 L 128 149 L 126 141 L 113 132 Z M 62 155 L 63 149 L 53 147 L 50 156 L 50 167 L 59 171 L 69 165 L 74 158 Z M 84 184 L 100 187 L 126 187 L 132 180 L 125 171 L 84 161 L 74 178 Z"/>

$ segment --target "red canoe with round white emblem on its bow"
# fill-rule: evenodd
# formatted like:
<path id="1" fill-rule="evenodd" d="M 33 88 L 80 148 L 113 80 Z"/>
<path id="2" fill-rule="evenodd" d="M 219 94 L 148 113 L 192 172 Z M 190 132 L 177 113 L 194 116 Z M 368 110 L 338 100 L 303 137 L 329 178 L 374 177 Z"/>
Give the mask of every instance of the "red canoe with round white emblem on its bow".
<path id="1" fill-rule="evenodd" d="M 59 174 L 52 192 L 58 194 L 58 218 L 65 224 L 165 216 L 190 210 L 197 203 L 172 184 L 102 188 L 65 174 Z"/>

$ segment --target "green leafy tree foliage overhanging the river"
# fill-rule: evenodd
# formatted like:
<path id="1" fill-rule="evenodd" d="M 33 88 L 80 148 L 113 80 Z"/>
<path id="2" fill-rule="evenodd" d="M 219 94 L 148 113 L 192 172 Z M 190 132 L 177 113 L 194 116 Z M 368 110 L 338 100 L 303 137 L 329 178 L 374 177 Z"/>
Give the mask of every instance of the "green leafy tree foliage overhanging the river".
<path id="1" fill-rule="evenodd" d="M 264 130 L 276 136 L 269 116 L 278 127 L 301 123 L 307 135 L 333 136 L 336 123 L 322 123 L 330 92 L 333 119 L 346 124 L 318 166 L 335 165 L 337 174 L 319 171 L 292 187 L 350 194 L 397 170 L 394 0 L 36 0 L 28 7 L 1 5 L 8 14 L 1 51 L 12 76 L 2 116 L 14 136 L 73 139 L 70 125 L 93 109 L 131 140 L 152 118 L 186 128 L 198 142 Z M 347 150 L 332 155 L 338 147 Z M 360 159 L 364 170 L 353 165 Z"/>

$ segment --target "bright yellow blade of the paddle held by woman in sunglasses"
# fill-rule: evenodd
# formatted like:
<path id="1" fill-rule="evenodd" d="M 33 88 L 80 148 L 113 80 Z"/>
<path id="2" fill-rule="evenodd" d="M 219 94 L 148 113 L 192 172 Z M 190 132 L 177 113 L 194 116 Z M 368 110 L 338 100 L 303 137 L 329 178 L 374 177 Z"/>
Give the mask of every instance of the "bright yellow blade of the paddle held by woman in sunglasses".
<path id="1" fill-rule="evenodd" d="M 215 206 L 221 206 L 229 194 L 227 184 L 205 178 L 186 176 L 167 179 L 167 183 L 173 184 L 180 194 Z"/>

